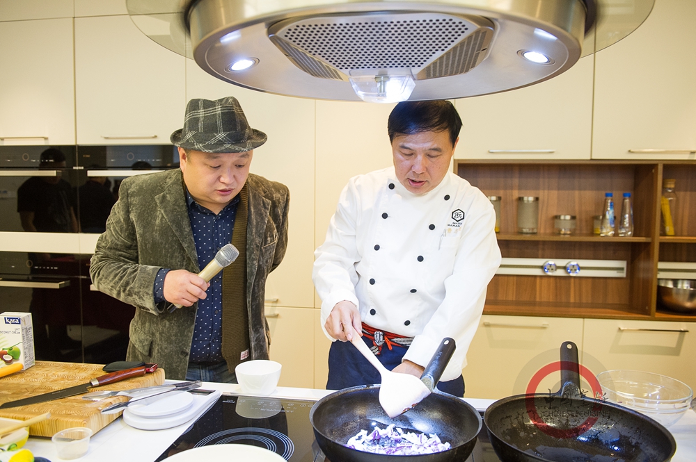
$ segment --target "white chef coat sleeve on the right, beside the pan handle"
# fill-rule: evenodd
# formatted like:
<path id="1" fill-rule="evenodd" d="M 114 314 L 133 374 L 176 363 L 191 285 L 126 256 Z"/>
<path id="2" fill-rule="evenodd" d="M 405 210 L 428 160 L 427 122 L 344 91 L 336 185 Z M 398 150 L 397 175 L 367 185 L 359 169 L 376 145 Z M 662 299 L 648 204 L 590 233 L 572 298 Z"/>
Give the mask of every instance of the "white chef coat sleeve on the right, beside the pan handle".
<path id="1" fill-rule="evenodd" d="M 457 348 L 442 381 L 456 379 L 466 365 L 466 351 L 483 312 L 488 283 L 500 266 L 495 225 L 493 206 L 479 193 L 466 214 L 452 274 L 444 281 L 445 298 L 404 355 L 404 360 L 425 367 L 441 340 L 454 338 Z"/>

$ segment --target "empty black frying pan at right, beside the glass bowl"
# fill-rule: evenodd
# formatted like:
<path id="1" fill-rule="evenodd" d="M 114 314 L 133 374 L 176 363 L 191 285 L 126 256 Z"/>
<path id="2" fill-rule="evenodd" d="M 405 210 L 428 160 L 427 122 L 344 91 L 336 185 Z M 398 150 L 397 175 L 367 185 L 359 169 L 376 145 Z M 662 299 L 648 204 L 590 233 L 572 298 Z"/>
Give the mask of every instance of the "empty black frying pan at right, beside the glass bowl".
<path id="1" fill-rule="evenodd" d="M 561 388 L 557 393 L 500 399 L 484 414 L 491 445 L 503 462 L 672 459 L 677 443 L 661 424 L 580 393 L 578 347 L 574 343 L 561 345 L 560 358 Z M 601 398 L 599 383 L 592 388 Z"/>

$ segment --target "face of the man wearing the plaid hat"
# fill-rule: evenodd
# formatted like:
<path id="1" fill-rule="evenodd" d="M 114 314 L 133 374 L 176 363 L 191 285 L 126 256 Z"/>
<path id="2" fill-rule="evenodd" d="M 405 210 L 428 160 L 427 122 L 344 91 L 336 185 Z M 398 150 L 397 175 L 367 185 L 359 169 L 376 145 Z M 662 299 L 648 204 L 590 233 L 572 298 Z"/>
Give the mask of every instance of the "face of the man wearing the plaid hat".
<path id="1" fill-rule="evenodd" d="M 181 171 L 189 193 L 198 204 L 220 213 L 239 191 L 249 176 L 253 150 L 246 152 L 210 153 L 179 148 Z"/>

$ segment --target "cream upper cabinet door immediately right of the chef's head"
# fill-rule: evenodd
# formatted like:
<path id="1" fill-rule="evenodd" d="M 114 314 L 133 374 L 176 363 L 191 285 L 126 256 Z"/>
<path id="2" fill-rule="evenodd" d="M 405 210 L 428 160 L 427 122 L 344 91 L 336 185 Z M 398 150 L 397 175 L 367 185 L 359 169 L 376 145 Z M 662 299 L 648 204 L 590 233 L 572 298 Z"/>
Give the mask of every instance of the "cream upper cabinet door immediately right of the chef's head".
<path id="1" fill-rule="evenodd" d="M 592 56 L 549 81 L 457 99 L 457 159 L 589 159 Z"/>

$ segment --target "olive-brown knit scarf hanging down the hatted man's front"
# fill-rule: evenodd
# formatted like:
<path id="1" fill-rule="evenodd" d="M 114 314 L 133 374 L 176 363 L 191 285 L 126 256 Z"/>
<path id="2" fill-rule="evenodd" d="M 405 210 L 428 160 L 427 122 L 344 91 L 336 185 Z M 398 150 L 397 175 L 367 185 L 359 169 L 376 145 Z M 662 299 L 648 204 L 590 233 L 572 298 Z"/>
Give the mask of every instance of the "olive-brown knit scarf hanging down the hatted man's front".
<path id="1" fill-rule="evenodd" d="M 249 352 L 249 315 L 246 302 L 246 219 L 248 213 L 248 190 L 246 185 L 239 191 L 239 204 L 232 231 L 232 245 L 239 250 L 237 260 L 222 273 L 222 356 L 230 372 Z"/>

